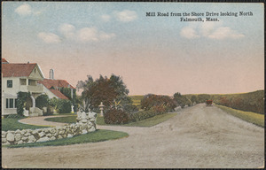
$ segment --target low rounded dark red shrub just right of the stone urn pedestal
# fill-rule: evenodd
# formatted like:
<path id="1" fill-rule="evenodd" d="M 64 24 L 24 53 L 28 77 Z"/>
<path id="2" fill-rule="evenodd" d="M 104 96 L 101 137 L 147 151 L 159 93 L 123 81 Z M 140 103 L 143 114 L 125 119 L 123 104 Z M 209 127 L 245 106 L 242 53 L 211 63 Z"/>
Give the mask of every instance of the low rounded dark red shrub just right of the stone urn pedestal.
<path id="1" fill-rule="evenodd" d="M 104 119 L 106 124 L 126 124 L 129 123 L 129 114 L 112 108 L 105 113 Z"/>

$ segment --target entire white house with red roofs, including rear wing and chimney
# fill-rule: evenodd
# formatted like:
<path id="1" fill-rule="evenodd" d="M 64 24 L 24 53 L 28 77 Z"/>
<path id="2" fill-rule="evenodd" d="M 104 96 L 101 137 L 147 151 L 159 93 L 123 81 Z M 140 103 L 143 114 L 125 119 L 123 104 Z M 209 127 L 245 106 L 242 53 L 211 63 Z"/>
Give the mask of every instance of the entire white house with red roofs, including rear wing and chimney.
<path id="1" fill-rule="evenodd" d="M 45 79 L 41 68 L 36 63 L 9 63 L 2 58 L 2 116 L 17 114 L 18 92 L 29 92 L 32 107 L 29 116 L 43 115 L 43 111 L 35 107 L 35 98 L 46 94 L 49 98 L 69 99 L 60 92 L 61 88 L 70 88 L 73 97 L 74 87 L 65 80 L 54 80 L 53 70 L 50 79 Z"/>

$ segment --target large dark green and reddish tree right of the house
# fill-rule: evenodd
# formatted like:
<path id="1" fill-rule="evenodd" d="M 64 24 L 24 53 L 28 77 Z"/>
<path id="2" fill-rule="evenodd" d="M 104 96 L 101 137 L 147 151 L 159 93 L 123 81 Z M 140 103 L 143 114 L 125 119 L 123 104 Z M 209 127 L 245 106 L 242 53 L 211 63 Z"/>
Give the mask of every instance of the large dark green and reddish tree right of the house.
<path id="1" fill-rule="evenodd" d="M 87 77 L 86 81 L 78 81 L 77 89 L 83 89 L 82 100 L 86 98 L 89 101 L 90 110 L 98 112 L 98 105 L 103 102 L 107 111 L 114 102 L 119 101 L 121 101 L 122 109 L 134 110 L 134 107 L 129 106 L 132 105 L 127 97 L 129 89 L 127 89 L 120 76 L 112 74 L 110 78 L 107 78 L 100 75 L 95 81 L 90 75 Z"/>

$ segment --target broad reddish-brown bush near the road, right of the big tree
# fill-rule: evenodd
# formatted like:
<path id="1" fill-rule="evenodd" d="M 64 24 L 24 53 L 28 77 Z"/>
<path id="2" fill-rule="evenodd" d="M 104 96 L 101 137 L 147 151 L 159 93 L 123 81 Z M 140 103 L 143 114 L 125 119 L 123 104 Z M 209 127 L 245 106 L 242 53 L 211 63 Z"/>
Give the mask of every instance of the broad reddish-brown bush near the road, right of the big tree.
<path id="1" fill-rule="evenodd" d="M 174 111 L 176 102 L 168 96 L 159 96 L 148 94 L 141 100 L 141 108 L 145 111 L 150 110 L 153 106 L 165 107 L 167 112 Z"/>

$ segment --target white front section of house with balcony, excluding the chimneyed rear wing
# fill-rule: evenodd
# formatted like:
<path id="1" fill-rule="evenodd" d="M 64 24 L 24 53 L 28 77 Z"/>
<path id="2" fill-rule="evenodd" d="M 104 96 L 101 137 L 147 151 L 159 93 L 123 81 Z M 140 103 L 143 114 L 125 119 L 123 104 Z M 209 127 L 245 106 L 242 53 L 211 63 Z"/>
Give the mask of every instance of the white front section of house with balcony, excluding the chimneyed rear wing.
<path id="1" fill-rule="evenodd" d="M 29 92 L 33 106 L 30 113 L 43 115 L 35 108 L 35 98 L 43 93 L 43 85 L 37 81 L 44 79 L 41 68 L 36 63 L 9 63 L 4 58 L 2 62 L 2 116 L 17 114 L 17 93 Z"/>

